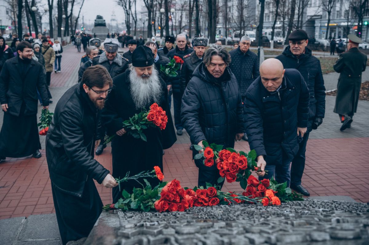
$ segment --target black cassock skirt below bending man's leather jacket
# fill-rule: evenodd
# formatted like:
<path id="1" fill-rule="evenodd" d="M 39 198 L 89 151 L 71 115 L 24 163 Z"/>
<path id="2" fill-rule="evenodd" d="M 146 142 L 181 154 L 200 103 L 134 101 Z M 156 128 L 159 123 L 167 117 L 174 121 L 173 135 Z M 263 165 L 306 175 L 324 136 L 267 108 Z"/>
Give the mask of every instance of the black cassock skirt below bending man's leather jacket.
<path id="1" fill-rule="evenodd" d="M 52 182 L 51 190 L 63 245 L 88 237 L 103 207 L 94 181 L 87 179 L 82 198 L 60 191 Z"/>

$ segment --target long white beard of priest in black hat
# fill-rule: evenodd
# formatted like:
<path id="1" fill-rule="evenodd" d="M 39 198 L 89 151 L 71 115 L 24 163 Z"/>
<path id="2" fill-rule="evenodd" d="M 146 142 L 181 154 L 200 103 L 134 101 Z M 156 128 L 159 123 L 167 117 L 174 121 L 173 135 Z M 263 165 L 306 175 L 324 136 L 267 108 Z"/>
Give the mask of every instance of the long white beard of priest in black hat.
<path id="1" fill-rule="evenodd" d="M 131 67 L 130 84 L 131 96 L 136 109 L 142 109 L 153 102 L 159 104 L 163 91 L 154 65 L 152 66 L 152 74 L 148 78 L 138 77 L 134 67 Z"/>

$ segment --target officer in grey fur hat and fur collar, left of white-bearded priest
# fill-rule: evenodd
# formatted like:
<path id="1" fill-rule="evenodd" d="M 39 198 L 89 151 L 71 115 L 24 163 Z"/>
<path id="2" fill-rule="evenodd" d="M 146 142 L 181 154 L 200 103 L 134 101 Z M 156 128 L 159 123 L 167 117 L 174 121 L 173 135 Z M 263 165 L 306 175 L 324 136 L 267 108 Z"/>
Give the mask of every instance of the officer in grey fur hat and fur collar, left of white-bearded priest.
<path id="1" fill-rule="evenodd" d="M 117 39 L 105 39 L 104 41 L 104 49 L 105 52 L 99 56 L 96 56 L 92 60 L 92 65 L 102 65 L 105 67 L 111 78 L 116 77 L 119 74 L 122 74 L 128 68 L 128 62 L 126 58 L 118 54 L 119 42 Z M 104 144 L 105 134 L 101 132 L 100 145 L 96 149 L 96 155 L 100 155 L 103 153 L 106 145 Z"/>

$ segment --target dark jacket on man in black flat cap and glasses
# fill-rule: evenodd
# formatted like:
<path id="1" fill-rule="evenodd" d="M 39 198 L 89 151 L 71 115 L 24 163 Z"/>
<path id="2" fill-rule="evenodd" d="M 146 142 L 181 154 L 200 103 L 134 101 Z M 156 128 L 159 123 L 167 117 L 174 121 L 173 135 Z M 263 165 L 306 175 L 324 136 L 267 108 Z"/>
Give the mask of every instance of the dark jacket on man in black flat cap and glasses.
<path id="1" fill-rule="evenodd" d="M 307 84 L 310 94 L 310 122 L 308 125 L 310 131 L 311 121 L 315 117 L 324 118 L 325 113 L 325 87 L 320 61 L 311 55 L 311 50 L 308 48 L 305 48 L 305 53 L 297 58 L 292 54 L 290 46 L 287 46 L 283 53 L 276 58 L 282 62 L 284 68 L 298 70 Z"/>

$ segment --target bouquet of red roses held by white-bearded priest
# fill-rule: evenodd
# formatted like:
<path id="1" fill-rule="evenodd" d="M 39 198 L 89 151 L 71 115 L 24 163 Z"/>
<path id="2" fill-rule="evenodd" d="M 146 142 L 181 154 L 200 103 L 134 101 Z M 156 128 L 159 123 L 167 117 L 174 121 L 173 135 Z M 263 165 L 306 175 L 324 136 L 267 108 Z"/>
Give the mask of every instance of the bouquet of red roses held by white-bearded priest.
<path id="1" fill-rule="evenodd" d="M 144 129 L 149 127 L 159 127 L 161 130 L 165 129 L 166 123 L 168 123 L 168 116 L 166 116 L 165 111 L 154 103 L 150 106 L 149 111 L 142 111 L 135 114 L 130 119 L 123 122 L 123 128 L 127 131 L 127 134 L 132 135 L 134 138 L 141 138 L 146 141 L 146 136 L 143 132 Z M 115 135 L 105 136 L 105 144 L 109 143 Z"/>

